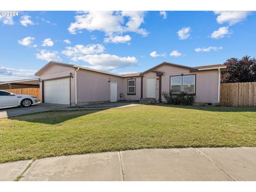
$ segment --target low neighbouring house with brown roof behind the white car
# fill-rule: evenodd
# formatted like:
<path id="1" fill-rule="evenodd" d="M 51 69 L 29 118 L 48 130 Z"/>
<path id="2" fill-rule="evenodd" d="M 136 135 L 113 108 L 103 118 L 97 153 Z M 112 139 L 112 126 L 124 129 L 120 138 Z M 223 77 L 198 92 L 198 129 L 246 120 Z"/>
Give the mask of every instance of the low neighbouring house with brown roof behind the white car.
<path id="1" fill-rule="evenodd" d="M 19 89 L 28 87 L 39 88 L 38 78 L 0 82 L 0 90 Z"/>

